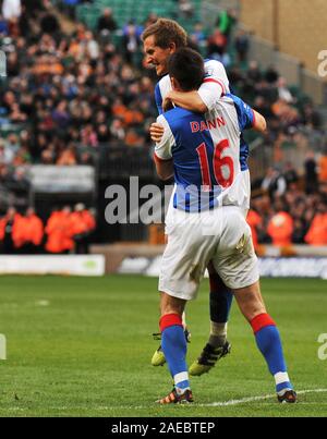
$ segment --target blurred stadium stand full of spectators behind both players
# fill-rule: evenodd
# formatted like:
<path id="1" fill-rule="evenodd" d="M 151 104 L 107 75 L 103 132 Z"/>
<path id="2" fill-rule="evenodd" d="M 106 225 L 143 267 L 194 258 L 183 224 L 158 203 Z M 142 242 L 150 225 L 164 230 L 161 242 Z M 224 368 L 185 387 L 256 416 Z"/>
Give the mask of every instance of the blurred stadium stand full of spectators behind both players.
<path id="1" fill-rule="evenodd" d="M 282 224 L 279 214 L 287 212 L 292 219 L 291 242 L 326 245 L 327 150 L 320 113 L 274 65 L 262 69 L 249 59 L 247 35 L 235 28 L 234 19 L 231 33 L 225 33 L 221 17 L 208 28 L 202 22 L 201 1 L 190 1 L 191 8 L 183 9 L 185 3 L 34 0 L 34 8 L 22 1 L 17 17 L 1 19 L 1 46 L 8 56 L 8 77 L 0 83 L 2 215 L 10 207 L 24 211 L 31 205 L 31 167 L 86 166 L 95 169 L 98 190 L 86 202 L 98 210 L 95 240 L 125 236 L 123 228 L 108 228 L 105 222 L 104 191 L 112 183 L 126 185 L 130 175 L 158 183 L 148 135 L 157 115 L 156 77 L 143 66 L 140 35 L 146 23 L 164 15 L 184 25 L 204 56 L 222 61 L 234 92 L 268 120 L 265 137 L 246 135 L 258 243 L 274 242 L 268 224 Z M 99 20 L 108 8 L 114 25 L 104 33 Z M 77 195 L 59 198 L 58 204 L 78 200 Z M 46 221 L 51 202 L 37 203 Z M 128 236 L 137 240 L 146 233 Z M 161 242 L 153 234 L 150 240 Z"/>

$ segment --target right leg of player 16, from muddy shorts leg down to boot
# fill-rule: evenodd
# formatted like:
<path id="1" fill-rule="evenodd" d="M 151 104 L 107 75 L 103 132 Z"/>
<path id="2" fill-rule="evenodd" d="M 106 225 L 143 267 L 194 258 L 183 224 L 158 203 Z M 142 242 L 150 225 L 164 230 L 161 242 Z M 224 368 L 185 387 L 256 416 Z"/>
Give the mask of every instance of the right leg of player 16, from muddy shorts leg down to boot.
<path id="1" fill-rule="evenodd" d="M 241 312 L 254 330 L 257 346 L 275 378 L 278 400 L 295 402 L 296 394 L 287 374 L 279 332 L 261 294 L 251 229 L 238 209 L 229 207 L 223 212 L 225 231 L 214 257 L 215 268 L 233 290 Z"/>

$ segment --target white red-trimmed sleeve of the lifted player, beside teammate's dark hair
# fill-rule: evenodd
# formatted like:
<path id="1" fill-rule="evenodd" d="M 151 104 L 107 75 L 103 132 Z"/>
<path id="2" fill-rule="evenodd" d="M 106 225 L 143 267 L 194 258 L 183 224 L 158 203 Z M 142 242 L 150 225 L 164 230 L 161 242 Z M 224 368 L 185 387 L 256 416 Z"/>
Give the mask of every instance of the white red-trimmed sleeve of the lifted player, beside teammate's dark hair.
<path id="1" fill-rule="evenodd" d="M 221 62 L 205 62 L 205 78 L 197 93 L 208 111 L 214 110 L 220 97 L 229 93 L 229 81 Z"/>

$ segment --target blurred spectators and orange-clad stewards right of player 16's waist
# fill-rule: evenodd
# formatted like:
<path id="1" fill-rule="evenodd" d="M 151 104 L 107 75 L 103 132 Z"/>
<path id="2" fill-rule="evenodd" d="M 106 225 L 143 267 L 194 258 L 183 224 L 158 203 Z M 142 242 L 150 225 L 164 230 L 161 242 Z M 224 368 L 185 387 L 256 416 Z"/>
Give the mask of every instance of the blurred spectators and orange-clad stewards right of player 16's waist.
<path id="1" fill-rule="evenodd" d="M 292 163 L 269 168 L 251 202 L 247 222 L 255 246 L 327 245 L 327 159 L 308 153 L 301 178 Z"/>

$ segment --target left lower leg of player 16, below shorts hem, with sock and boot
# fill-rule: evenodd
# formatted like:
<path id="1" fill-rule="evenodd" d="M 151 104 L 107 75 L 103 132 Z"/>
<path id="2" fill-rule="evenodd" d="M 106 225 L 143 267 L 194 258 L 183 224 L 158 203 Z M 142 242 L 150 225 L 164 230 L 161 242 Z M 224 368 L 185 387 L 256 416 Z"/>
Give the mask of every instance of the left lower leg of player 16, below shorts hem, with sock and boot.
<path id="1" fill-rule="evenodd" d="M 193 402 L 186 365 L 187 346 L 182 324 L 185 303 L 185 300 L 161 292 L 159 322 L 161 346 L 174 386 L 167 397 L 157 401 L 160 404 Z"/>

